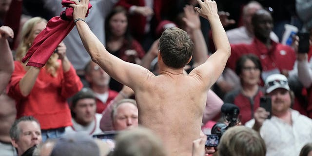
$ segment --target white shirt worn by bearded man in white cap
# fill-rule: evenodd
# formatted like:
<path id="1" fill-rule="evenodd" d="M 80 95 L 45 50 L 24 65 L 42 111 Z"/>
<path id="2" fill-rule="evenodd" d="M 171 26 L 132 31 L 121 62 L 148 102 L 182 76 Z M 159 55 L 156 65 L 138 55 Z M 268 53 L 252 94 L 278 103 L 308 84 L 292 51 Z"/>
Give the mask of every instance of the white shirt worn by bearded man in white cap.
<path id="1" fill-rule="evenodd" d="M 260 135 L 266 147 L 266 156 L 299 156 L 302 147 L 312 141 L 312 119 L 291 110 L 292 125 L 278 117 L 266 119 L 260 128 Z M 245 126 L 253 127 L 254 119 Z"/>

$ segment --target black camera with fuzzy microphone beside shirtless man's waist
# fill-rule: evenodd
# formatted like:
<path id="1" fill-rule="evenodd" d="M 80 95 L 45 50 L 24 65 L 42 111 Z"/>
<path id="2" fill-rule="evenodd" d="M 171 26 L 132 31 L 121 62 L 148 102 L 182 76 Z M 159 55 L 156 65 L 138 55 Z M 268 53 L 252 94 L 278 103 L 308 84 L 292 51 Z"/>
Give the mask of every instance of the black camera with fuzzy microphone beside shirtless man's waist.
<path id="1" fill-rule="evenodd" d="M 223 133 L 229 128 L 237 125 L 239 123 L 239 108 L 232 103 L 224 103 L 221 107 L 222 116 L 229 125 L 225 123 L 218 122 L 211 129 L 212 135 L 207 135 L 207 137 L 218 136 L 217 139 L 221 138 Z M 218 141 L 219 142 L 219 141 Z M 206 146 L 211 146 L 206 143 Z M 217 146 L 217 145 L 214 145 Z"/>

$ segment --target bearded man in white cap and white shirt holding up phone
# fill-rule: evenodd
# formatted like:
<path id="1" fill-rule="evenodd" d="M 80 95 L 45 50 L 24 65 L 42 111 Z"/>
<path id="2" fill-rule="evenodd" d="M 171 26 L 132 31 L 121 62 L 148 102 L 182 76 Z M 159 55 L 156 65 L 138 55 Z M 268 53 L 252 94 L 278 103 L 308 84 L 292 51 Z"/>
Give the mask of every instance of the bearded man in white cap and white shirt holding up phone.
<path id="1" fill-rule="evenodd" d="M 293 93 L 284 75 L 269 76 L 265 88 L 272 99 L 272 117 L 268 119 L 270 113 L 259 107 L 245 125 L 260 133 L 267 156 L 299 156 L 300 149 L 312 140 L 312 120 L 291 109 Z"/>

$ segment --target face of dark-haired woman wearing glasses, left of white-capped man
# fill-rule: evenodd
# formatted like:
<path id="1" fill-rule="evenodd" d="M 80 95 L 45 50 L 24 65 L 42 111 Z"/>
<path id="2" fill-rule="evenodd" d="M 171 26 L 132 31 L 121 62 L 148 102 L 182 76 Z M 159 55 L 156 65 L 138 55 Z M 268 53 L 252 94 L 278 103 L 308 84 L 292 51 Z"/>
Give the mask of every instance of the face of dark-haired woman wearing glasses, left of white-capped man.
<path id="1" fill-rule="evenodd" d="M 256 67 L 254 62 L 247 59 L 242 67 L 240 79 L 242 84 L 257 85 L 260 80 L 260 69 Z"/>

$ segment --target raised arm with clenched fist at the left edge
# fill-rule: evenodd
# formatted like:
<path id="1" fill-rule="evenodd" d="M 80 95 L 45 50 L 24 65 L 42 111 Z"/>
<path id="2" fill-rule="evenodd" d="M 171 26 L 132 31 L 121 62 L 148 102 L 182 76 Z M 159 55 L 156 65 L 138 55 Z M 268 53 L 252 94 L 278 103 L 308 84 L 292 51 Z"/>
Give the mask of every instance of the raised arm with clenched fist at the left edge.
<path id="1" fill-rule="evenodd" d="M 0 94 L 8 84 L 14 70 L 13 56 L 7 40 L 13 37 L 14 33 L 10 27 L 0 27 Z"/>

